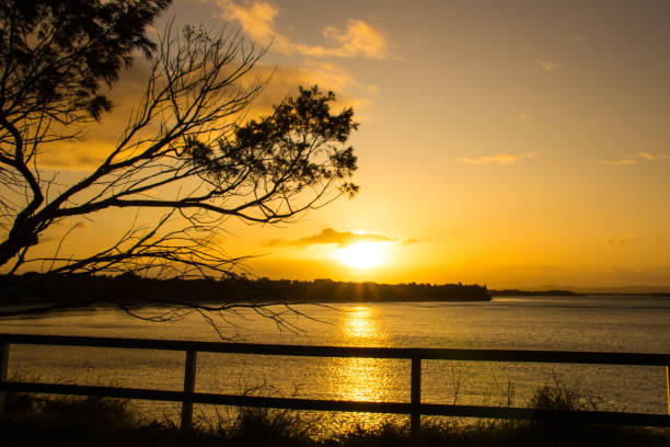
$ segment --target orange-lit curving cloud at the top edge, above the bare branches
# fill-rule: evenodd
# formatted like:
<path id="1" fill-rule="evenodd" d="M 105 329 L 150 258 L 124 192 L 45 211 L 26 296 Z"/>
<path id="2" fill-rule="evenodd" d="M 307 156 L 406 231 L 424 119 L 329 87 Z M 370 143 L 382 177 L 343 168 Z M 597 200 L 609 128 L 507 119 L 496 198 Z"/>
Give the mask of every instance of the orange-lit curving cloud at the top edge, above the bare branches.
<path id="1" fill-rule="evenodd" d="M 323 36 L 333 45 L 305 45 L 293 43 L 275 27 L 279 9 L 265 1 L 238 4 L 232 0 L 219 0 L 227 20 L 238 21 L 244 32 L 262 45 L 272 44 L 272 49 L 285 55 L 299 54 L 310 57 L 355 57 L 385 59 L 389 44 L 383 33 L 361 20 L 349 20 L 344 28 L 325 26 Z"/>

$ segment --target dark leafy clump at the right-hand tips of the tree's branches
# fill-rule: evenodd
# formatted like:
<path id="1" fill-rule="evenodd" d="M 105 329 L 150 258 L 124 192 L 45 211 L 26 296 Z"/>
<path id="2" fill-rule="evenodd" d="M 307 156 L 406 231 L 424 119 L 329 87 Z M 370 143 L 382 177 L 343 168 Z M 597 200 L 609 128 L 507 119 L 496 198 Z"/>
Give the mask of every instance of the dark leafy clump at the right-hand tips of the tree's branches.
<path id="1" fill-rule="evenodd" d="M 358 123 L 351 107 L 332 114 L 335 100 L 333 92 L 323 93 L 316 85 L 300 87 L 299 94 L 275 106 L 272 115 L 235 125 L 216 149 L 188 138 L 186 153 L 217 180 L 249 170 L 253 182 L 272 184 L 282 195 L 346 179 L 357 169 L 357 158 L 354 148 L 343 145 Z M 339 187 L 350 196 L 358 191 L 346 182 Z"/>

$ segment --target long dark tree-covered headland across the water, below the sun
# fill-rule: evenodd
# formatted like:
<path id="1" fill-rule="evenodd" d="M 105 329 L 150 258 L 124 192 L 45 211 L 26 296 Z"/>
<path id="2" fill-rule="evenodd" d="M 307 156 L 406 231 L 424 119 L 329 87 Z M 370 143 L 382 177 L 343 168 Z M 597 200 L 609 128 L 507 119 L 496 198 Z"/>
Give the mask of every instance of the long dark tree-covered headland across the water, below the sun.
<path id="1" fill-rule="evenodd" d="M 462 284 L 378 284 L 345 283 L 331 279 L 273 280 L 268 278 L 157 279 L 132 273 L 107 275 L 23 275 L 0 276 L 2 294 L 21 297 L 21 310 L 4 309 L 1 316 L 42 313 L 106 302 L 132 308 L 151 305 L 204 305 L 226 302 L 272 305 L 298 302 L 381 301 L 484 301 L 488 289 Z"/>

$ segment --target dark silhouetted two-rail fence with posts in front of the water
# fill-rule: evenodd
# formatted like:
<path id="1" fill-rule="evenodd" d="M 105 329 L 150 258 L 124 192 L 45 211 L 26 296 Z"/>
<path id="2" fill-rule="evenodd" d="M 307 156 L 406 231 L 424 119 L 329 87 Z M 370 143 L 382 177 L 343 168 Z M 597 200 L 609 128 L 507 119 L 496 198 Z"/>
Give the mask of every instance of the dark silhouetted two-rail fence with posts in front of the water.
<path id="1" fill-rule="evenodd" d="M 184 390 L 91 387 L 80 385 L 9 381 L 8 358 L 12 344 L 115 347 L 135 349 L 181 351 L 186 353 Z M 412 362 L 411 402 L 360 402 L 299 398 L 266 398 L 253 396 L 195 392 L 197 353 L 234 353 L 308 357 L 395 358 Z M 600 411 L 534 410 L 509 406 L 455 405 L 421 403 L 421 360 L 471 360 L 642 365 L 666 367 L 668 411 L 670 414 L 670 354 L 599 353 L 569 351 L 451 349 L 273 345 L 221 342 L 189 342 L 147 339 L 0 334 L 0 411 L 5 392 L 38 392 L 95 396 L 126 399 L 182 402 L 182 427 L 189 427 L 194 403 L 277 408 L 313 411 L 347 411 L 411 415 L 411 429 L 417 434 L 421 415 L 494 417 L 519 420 L 552 420 L 605 424 L 670 427 L 670 415 Z"/>

